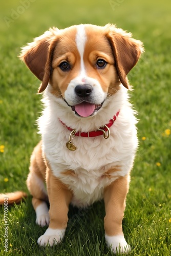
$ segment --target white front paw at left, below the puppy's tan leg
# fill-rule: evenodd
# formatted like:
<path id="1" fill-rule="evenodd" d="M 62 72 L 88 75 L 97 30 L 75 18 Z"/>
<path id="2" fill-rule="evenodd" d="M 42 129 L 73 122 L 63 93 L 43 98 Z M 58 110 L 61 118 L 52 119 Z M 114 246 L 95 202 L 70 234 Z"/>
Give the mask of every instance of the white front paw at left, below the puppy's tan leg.
<path id="1" fill-rule="evenodd" d="M 65 234 L 65 229 L 48 228 L 46 232 L 41 237 L 39 237 L 39 239 L 37 240 L 37 243 L 40 246 L 46 246 L 48 244 L 50 246 L 53 246 L 62 241 L 64 234 Z"/>

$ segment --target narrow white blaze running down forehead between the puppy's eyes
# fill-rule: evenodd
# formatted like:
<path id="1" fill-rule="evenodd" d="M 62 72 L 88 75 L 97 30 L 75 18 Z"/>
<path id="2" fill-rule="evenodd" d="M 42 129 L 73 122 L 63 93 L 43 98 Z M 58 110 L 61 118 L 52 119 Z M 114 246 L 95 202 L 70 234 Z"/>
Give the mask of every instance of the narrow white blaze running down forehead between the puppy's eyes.
<path id="1" fill-rule="evenodd" d="M 85 76 L 86 75 L 86 69 L 84 66 L 83 62 L 83 53 L 84 53 L 84 46 L 86 44 L 87 36 L 86 36 L 86 31 L 84 28 L 84 25 L 79 25 L 77 27 L 77 34 L 76 34 L 76 46 L 78 49 L 78 52 L 80 54 L 81 58 L 81 70 L 80 70 L 80 75 Z"/>

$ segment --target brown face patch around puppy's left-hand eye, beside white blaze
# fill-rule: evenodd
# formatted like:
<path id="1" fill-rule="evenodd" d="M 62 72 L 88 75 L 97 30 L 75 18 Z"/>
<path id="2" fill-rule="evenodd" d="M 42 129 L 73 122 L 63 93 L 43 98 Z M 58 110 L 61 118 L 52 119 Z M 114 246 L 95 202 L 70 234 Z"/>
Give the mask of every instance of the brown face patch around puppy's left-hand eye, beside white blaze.
<path id="1" fill-rule="evenodd" d="M 61 31 L 50 46 L 45 74 L 48 77 L 50 74 L 50 68 L 52 67 L 53 71 L 50 76 L 50 83 L 53 89 L 51 93 L 57 97 L 64 96 L 69 82 L 77 75 L 78 72 L 77 66 L 79 66 L 78 62 L 80 57 L 75 43 L 76 31 L 75 26 Z M 71 71 L 61 71 L 59 64 L 63 61 L 70 63 L 72 68 Z"/>

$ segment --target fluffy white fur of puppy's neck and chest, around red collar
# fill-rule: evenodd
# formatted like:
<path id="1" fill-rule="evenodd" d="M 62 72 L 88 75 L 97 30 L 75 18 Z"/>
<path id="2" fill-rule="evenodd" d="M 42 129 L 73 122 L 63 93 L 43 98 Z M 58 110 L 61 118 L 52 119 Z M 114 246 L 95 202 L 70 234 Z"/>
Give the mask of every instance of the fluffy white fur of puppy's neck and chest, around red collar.
<path id="1" fill-rule="evenodd" d="M 128 102 L 127 91 L 121 85 L 120 90 L 104 102 L 101 110 L 88 118 L 76 116 L 62 99 L 53 96 L 48 89 L 45 101 L 46 108 L 38 124 L 43 151 L 51 163 L 52 172 L 73 191 L 74 205 L 90 205 L 102 198 L 104 187 L 118 176 L 129 174 L 133 166 L 138 145 L 135 126 L 137 121 Z M 75 137 L 73 143 L 77 150 L 68 150 L 66 142 L 71 132 L 58 118 L 76 131 L 88 132 L 108 123 L 118 110 L 120 113 L 110 127 L 109 139 L 104 139 L 103 136 Z M 118 172 L 111 174 L 110 179 L 103 177 L 105 172 L 117 166 Z M 68 169 L 75 173 L 70 179 L 62 175 Z"/>

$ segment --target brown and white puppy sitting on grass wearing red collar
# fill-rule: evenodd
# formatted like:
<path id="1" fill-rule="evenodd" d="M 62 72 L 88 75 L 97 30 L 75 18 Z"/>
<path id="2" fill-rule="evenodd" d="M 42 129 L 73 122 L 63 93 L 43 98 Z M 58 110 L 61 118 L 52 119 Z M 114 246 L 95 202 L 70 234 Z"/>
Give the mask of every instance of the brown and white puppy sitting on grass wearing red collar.
<path id="1" fill-rule="evenodd" d="M 45 106 L 27 179 L 36 223 L 49 225 L 40 246 L 62 241 L 70 203 L 103 199 L 106 244 L 131 250 L 122 219 L 138 139 L 126 75 L 142 52 L 140 40 L 112 24 L 52 28 L 22 49 Z"/>

